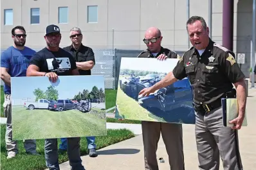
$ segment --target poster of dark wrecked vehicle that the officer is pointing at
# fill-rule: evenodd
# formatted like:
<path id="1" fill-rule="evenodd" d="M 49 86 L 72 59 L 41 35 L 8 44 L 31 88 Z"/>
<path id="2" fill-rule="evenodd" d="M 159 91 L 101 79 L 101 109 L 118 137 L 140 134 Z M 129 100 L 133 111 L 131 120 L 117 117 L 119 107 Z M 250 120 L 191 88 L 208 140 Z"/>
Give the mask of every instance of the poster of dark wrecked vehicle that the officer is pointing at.
<path id="1" fill-rule="evenodd" d="M 139 92 L 161 81 L 178 59 L 122 58 L 116 95 L 116 119 L 194 124 L 193 90 L 188 78 L 178 80 L 149 96 Z"/>

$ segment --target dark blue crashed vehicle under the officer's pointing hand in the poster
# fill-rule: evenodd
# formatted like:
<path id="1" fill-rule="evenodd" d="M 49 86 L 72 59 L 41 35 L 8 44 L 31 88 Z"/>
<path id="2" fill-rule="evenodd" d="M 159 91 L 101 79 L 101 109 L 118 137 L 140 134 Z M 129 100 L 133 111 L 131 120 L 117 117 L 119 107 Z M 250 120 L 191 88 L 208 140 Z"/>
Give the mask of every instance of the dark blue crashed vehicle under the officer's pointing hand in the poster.
<path id="1" fill-rule="evenodd" d="M 192 86 L 188 78 L 184 78 L 149 96 L 138 96 L 138 103 L 165 121 L 194 123 L 196 120 L 192 99 Z"/>

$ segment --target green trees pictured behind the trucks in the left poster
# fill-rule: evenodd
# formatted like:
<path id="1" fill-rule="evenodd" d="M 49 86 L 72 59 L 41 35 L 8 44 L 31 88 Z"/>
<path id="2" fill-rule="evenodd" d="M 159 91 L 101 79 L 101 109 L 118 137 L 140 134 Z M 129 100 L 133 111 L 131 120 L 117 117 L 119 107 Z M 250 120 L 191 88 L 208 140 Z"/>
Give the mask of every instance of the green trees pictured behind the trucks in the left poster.
<path id="1" fill-rule="evenodd" d="M 47 100 L 55 100 L 59 99 L 59 91 L 55 89 L 53 86 L 47 87 L 47 90 L 44 92 L 43 90 L 37 88 L 33 91 L 33 94 L 35 95 L 35 101 L 38 101 L 38 99 L 47 99 Z M 91 91 L 84 89 L 82 92 L 78 92 L 78 94 L 75 94 L 74 98 L 71 100 L 86 100 L 89 99 L 91 102 L 105 102 L 105 92 L 104 89 L 94 86 Z"/>

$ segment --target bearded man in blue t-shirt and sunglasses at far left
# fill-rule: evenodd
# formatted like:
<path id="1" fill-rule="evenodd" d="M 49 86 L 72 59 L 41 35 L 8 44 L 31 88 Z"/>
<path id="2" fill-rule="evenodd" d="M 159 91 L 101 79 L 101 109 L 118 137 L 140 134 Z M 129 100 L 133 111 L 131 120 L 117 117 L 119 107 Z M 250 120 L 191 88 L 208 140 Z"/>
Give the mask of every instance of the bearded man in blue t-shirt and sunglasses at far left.
<path id="1" fill-rule="evenodd" d="M 26 43 L 26 31 L 23 26 L 16 26 L 12 29 L 14 45 L 8 47 L 1 54 L 1 79 L 4 81 L 5 102 L 3 103 L 6 121 L 6 149 L 7 158 L 13 158 L 18 153 L 17 141 L 12 140 L 12 99 L 11 99 L 11 77 L 26 76 L 26 69 L 30 58 L 35 51 L 24 46 Z M 39 155 L 36 151 L 35 140 L 24 140 L 26 153 Z"/>

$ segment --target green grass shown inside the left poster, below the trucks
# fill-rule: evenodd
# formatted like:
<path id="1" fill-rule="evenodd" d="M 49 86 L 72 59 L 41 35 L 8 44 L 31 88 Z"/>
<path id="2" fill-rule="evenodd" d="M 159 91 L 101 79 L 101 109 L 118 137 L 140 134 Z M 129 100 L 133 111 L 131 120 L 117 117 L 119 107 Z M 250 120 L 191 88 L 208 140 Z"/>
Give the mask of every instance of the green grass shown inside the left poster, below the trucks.
<path id="1" fill-rule="evenodd" d="M 92 108 L 87 113 L 74 109 L 58 112 L 13 106 L 12 128 L 14 140 L 100 136 L 106 134 L 105 110 Z"/>

